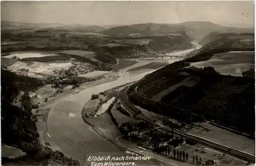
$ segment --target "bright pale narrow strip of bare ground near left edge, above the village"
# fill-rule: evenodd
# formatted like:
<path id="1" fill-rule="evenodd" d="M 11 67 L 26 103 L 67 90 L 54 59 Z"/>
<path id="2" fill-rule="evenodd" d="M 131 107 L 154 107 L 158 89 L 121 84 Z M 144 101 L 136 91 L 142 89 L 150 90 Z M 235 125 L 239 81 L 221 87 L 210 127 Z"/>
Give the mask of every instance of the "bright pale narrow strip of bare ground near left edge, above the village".
<path id="1" fill-rule="evenodd" d="M 9 56 L 5 56 L 5 58 L 18 57 L 19 59 L 30 58 L 30 57 L 47 57 L 47 56 L 58 56 L 54 53 L 44 53 L 44 52 L 14 52 Z"/>

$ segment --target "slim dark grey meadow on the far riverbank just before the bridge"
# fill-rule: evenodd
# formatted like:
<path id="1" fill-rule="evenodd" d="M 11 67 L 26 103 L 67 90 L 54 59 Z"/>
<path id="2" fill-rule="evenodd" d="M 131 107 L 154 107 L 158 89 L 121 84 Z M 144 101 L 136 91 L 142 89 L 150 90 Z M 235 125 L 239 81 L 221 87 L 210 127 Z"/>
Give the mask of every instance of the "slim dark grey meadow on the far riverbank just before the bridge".
<path id="1" fill-rule="evenodd" d="M 163 67 L 167 64 L 168 63 L 164 63 L 164 62 L 152 62 L 152 63 L 144 65 L 144 66 L 129 69 L 127 72 L 130 75 L 137 75 L 137 74 L 141 74 L 141 73 L 144 73 L 144 72 L 147 72 L 147 71 L 158 69 L 158 68 Z"/>

